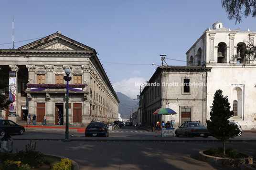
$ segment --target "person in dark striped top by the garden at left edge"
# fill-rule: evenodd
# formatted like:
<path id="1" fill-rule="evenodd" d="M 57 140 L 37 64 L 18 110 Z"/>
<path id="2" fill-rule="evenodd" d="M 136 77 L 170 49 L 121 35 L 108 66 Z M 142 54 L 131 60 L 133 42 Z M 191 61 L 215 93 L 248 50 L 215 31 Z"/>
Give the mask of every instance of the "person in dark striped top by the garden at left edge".
<path id="1" fill-rule="evenodd" d="M 5 133 L 0 140 L 0 152 L 1 153 L 12 153 L 13 150 L 13 139 L 10 133 Z"/>

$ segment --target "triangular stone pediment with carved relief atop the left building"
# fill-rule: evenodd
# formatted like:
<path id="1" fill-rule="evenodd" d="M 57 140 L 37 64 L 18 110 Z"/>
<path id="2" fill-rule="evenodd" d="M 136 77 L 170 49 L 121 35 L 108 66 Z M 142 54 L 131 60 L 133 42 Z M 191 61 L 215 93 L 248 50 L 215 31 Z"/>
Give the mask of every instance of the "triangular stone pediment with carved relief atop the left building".
<path id="1" fill-rule="evenodd" d="M 24 45 L 20 50 L 94 50 L 80 42 L 56 32 L 52 35 Z"/>

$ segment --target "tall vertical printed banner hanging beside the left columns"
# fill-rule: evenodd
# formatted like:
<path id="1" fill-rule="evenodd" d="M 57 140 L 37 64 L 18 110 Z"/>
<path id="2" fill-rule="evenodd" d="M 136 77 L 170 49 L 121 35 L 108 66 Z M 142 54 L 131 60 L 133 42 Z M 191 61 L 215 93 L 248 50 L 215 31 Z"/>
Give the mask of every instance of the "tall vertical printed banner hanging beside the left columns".
<path id="1" fill-rule="evenodd" d="M 9 116 L 16 116 L 17 100 L 17 78 L 16 71 L 9 71 L 9 100 L 12 103 L 9 106 Z"/>

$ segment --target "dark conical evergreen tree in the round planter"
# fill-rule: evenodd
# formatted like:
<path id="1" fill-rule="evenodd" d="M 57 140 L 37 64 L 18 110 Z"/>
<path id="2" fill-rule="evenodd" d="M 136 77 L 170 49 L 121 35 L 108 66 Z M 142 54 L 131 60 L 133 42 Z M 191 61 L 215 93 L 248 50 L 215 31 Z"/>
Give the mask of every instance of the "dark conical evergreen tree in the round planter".
<path id="1" fill-rule="evenodd" d="M 223 154 L 225 155 L 225 142 L 229 138 L 234 138 L 239 130 L 237 125 L 229 124 L 229 118 L 233 117 L 233 111 L 230 111 L 230 104 L 227 96 L 224 97 L 222 90 L 216 90 L 213 97 L 213 108 L 210 112 L 210 120 L 206 120 L 209 133 L 223 143 Z"/>

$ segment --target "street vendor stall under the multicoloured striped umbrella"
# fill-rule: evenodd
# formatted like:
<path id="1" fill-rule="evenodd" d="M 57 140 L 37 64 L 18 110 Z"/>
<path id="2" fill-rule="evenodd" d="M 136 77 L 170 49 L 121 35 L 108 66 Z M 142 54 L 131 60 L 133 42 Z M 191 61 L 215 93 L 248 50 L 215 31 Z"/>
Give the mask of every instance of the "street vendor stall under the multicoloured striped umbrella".
<path id="1" fill-rule="evenodd" d="M 170 109 L 170 108 L 160 108 L 158 110 L 156 110 L 153 115 L 173 115 L 173 114 L 177 114 L 174 110 Z M 170 121 L 168 121 L 165 124 L 165 127 L 162 128 L 162 133 L 161 136 L 162 137 L 174 137 L 174 128 L 171 127 L 171 123 L 170 126 L 168 125 L 170 123 Z"/>

